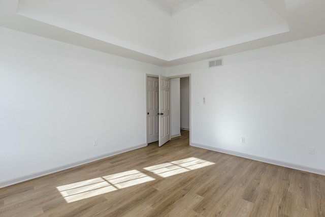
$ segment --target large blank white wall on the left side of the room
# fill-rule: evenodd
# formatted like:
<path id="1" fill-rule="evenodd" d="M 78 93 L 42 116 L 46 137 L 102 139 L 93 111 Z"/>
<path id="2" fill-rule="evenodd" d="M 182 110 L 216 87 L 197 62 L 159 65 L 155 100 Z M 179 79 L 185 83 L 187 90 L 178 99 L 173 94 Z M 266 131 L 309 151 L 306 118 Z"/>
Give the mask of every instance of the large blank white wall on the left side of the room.
<path id="1" fill-rule="evenodd" d="M 0 186 L 145 145 L 146 73 L 164 68 L 3 27 L 0 38 Z"/>

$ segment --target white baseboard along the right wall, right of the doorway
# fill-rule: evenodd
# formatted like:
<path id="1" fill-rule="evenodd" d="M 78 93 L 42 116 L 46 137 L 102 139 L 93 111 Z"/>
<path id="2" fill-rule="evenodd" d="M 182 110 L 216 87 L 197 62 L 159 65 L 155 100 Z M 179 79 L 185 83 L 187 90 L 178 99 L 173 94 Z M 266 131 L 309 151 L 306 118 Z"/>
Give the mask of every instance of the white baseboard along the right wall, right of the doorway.
<path id="1" fill-rule="evenodd" d="M 305 171 L 305 172 L 316 173 L 319 175 L 325 175 L 325 170 L 318 169 L 318 168 L 306 167 L 303 165 L 292 164 L 292 163 L 288 163 L 288 162 L 284 162 L 284 161 L 278 161 L 278 160 L 258 157 L 258 156 L 254 156 L 251 154 L 241 153 L 241 152 L 232 151 L 232 150 L 226 150 L 226 149 L 222 149 L 222 148 L 216 148 L 216 147 L 212 147 L 212 146 L 208 146 L 208 145 L 201 145 L 201 144 L 197 144 L 197 143 L 191 143 L 190 145 L 194 146 L 194 147 L 198 147 L 198 148 L 204 148 L 204 149 L 208 149 L 208 150 L 212 150 L 212 151 L 231 154 L 233 156 L 247 158 L 247 159 L 251 159 L 254 161 L 260 161 L 260 162 L 264 162 L 264 163 L 268 163 L 268 164 L 274 164 L 277 166 L 287 167 L 287 168 L 301 170 L 301 171 Z"/>

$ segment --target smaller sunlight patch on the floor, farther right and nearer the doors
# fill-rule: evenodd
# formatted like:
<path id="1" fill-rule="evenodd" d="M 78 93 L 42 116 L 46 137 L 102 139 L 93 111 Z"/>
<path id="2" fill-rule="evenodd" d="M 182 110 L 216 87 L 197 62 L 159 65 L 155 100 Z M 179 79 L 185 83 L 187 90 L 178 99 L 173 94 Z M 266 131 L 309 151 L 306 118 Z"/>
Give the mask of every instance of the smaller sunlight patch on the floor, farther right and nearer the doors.
<path id="1" fill-rule="evenodd" d="M 164 164 L 158 164 L 151 167 L 143 168 L 160 177 L 169 177 L 180 173 L 196 170 L 202 167 L 210 166 L 215 163 L 201 160 L 198 158 L 186 158 L 183 160 L 172 161 Z"/>

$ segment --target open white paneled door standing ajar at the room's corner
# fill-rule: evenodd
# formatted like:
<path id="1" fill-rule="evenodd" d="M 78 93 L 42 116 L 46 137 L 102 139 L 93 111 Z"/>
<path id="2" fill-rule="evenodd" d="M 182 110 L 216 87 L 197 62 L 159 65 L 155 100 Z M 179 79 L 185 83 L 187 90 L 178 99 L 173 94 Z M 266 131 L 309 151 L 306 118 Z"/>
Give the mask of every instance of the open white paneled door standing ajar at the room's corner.
<path id="1" fill-rule="evenodd" d="M 159 75 L 159 146 L 171 139 L 169 110 L 170 79 Z"/>

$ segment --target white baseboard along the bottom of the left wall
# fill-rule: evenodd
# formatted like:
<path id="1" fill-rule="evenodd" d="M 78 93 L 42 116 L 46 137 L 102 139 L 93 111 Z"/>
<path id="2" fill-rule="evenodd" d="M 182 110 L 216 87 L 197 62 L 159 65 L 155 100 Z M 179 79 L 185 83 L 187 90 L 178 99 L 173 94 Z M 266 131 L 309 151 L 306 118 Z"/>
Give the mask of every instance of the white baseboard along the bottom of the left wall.
<path id="1" fill-rule="evenodd" d="M 146 147 L 146 146 L 147 146 L 147 144 L 136 145 L 136 146 L 129 147 L 129 148 L 124 148 L 124 149 L 121 149 L 121 150 L 118 150 L 118 151 L 113 151 L 113 152 L 110 152 L 110 153 L 102 154 L 100 156 L 96 156 L 96 157 L 93 157 L 93 158 L 88 158 L 88 159 L 78 161 L 78 162 L 75 162 L 75 163 L 63 165 L 63 166 L 60 166 L 60 167 L 55 167 L 55 168 L 44 170 L 44 171 L 41 171 L 41 172 L 31 173 L 31 174 L 28 174 L 28 175 L 25 175 L 25 176 L 20 176 L 18 178 L 13 178 L 13 179 L 1 181 L 0 182 L 0 189 L 4 188 L 4 187 L 7 187 L 9 185 L 17 184 L 17 183 L 20 183 L 20 182 L 23 182 L 23 181 L 38 178 L 38 177 L 45 176 L 45 175 L 55 173 L 55 172 L 59 172 L 59 171 L 62 171 L 62 170 L 70 169 L 70 168 L 77 167 L 77 166 L 87 164 L 87 163 L 90 163 L 90 162 L 102 160 L 104 158 L 108 158 L 108 157 L 114 156 L 116 154 L 124 153 L 124 152 L 127 152 L 127 151 L 135 150 L 135 149 Z"/>

